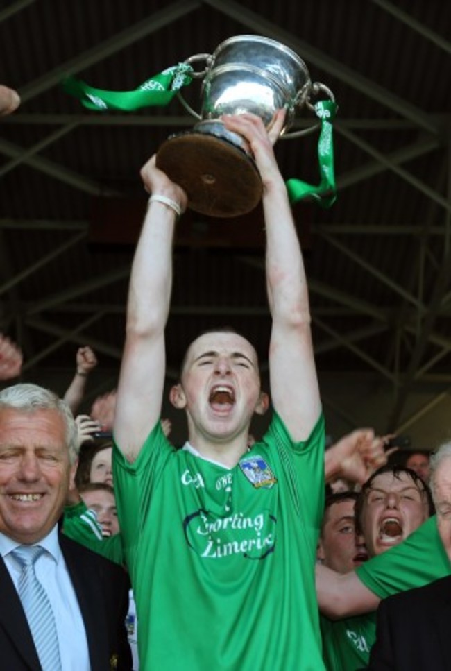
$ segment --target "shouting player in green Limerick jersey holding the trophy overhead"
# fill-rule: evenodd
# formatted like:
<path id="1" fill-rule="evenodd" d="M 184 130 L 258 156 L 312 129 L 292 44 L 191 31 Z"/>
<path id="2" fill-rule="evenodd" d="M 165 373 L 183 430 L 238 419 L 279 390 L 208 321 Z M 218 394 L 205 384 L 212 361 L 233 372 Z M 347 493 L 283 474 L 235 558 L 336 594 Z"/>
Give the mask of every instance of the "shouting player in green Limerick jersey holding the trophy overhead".
<path id="1" fill-rule="evenodd" d="M 139 620 L 140 669 L 320 671 L 314 561 L 324 492 L 324 428 L 303 259 L 270 135 L 251 114 L 224 117 L 244 136 L 263 185 L 272 317 L 273 416 L 248 447 L 260 389 L 257 353 L 215 330 L 188 348 L 171 401 L 187 416 L 176 450 L 162 432 L 164 328 L 176 214 L 187 195 L 152 158 L 128 296 L 114 423 L 114 489 Z"/>

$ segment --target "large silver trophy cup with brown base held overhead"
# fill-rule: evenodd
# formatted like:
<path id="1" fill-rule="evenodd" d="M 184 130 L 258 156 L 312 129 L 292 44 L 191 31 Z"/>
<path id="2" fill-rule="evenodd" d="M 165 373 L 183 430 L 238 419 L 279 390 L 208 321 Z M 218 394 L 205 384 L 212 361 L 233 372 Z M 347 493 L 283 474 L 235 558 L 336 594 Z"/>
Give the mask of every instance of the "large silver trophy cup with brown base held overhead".
<path id="1" fill-rule="evenodd" d="M 201 78 L 201 113 L 179 94 L 180 101 L 198 119 L 192 130 L 169 137 L 158 149 L 157 166 L 185 189 L 189 207 L 201 214 L 232 217 L 253 210 L 262 198 L 262 181 L 246 140 L 225 128 L 222 114 L 257 114 L 266 128 L 275 112 L 287 109 L 283 137 L 296 115 L 309 108 L 312 97 L 332 92 L 312 83 L 305 62 L 287 46 L 259 35 L 237 35 L 222 42 L 212 55 L 197 54 L 187 64 L 205 61 Z"/>

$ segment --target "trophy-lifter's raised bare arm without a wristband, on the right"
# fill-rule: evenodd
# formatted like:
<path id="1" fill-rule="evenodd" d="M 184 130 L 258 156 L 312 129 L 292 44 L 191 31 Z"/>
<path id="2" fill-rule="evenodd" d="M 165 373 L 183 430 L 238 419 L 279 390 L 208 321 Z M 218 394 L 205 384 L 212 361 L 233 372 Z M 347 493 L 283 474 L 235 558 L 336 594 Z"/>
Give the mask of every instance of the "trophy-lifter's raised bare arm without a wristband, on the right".
<path id="1" fill-rule="evenodd" d="M 310 333 L 309 299 L 303 257 L 287 189 L 271 142 L 283 125 L 281 110 L 269 135 L 261 119 L 243 114 L 226 120 L 244 135 L 263 182 L 266 226 L 266 283 L 273 319 L 269 368 L 273 407 L 294 441 L 308 438 L 321 412 Z"/>

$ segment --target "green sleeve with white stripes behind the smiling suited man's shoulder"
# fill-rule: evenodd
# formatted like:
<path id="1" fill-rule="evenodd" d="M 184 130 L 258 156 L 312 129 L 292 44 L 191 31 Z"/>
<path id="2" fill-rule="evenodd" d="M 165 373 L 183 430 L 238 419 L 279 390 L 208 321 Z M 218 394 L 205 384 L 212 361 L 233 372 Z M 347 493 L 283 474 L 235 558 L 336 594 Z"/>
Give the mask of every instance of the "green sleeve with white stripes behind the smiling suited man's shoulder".
<path id="1" fill-rule="evenodd" d="M 110 561 L 124 564 L 121 534 L 110 536 L 110 538 L 102 536 L 96 513 L 88 509 L 83 501 L 74 506 L 65 507 L 62 532 L 73 541 L 85 545 Z"/>

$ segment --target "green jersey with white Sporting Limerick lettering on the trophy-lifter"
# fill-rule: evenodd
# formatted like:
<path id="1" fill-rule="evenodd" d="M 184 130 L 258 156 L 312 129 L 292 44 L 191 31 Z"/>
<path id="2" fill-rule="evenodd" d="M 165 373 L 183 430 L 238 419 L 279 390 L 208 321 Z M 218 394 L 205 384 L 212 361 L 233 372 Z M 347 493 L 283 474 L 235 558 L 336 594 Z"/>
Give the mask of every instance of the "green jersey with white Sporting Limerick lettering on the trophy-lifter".
<path id="1" fill-rule="evenodd" d="M 133 464 L 114 446 L 141 671 L 323 669 L 323 449 L 322 416 L 302 443 L 274 416 L 234 468 L 174 449 L 160 422 Z"/>

